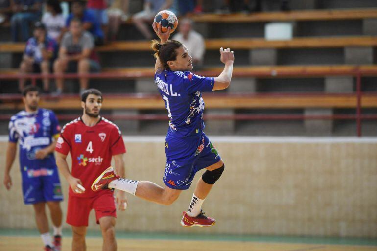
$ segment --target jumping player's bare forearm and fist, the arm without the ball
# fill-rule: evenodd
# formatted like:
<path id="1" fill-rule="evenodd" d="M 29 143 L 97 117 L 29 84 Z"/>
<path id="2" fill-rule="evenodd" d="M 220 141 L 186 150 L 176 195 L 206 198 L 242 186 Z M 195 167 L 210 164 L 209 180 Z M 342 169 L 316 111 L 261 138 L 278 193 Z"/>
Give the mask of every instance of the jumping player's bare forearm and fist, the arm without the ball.
<path id="1" fill-rule="evenodd" d="M 220 48 L 220 61 L 225 64 L 223 71 L 214 78 L 212 91 L 227 89 L 232 80 L 233 62 L 235 56 L 229 48 Z"/>

